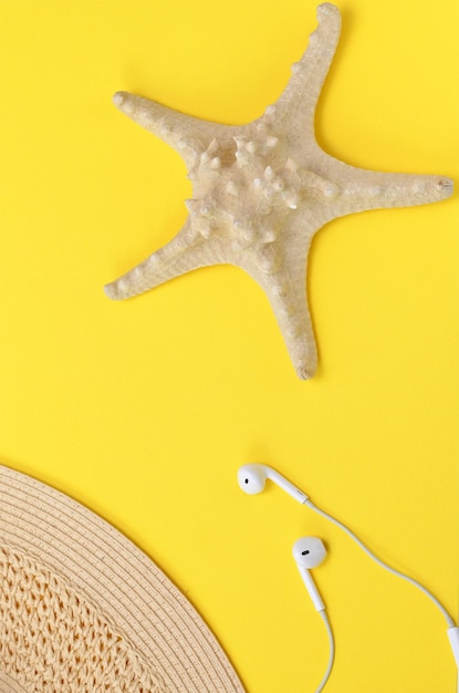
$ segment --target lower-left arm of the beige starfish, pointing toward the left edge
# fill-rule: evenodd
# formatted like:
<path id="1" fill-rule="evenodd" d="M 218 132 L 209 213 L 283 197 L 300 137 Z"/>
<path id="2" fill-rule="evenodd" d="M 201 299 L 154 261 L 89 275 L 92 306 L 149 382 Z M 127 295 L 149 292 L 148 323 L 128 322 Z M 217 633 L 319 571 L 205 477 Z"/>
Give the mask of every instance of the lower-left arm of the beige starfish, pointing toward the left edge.
<path id="1" fill-rule="evenodd" d="M 218 240 L 210 239 L 204 242 L 191 229 L 188 218 L 170 242 L 106 285 L 104 287 L 106 296 L 117 301 L 133 298 L 194 269 L 219 263 Z"/>

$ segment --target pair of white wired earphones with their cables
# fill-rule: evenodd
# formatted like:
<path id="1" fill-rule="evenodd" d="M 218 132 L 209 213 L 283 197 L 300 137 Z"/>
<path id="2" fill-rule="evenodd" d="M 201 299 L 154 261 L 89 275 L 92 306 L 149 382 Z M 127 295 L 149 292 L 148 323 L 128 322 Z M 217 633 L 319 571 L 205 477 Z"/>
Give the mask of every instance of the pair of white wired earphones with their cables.
<path id="1" fill-rule="evenodd" d="M 436 607 L 441 611 L 441 613 L 444 614 L 448 623 L 447 634 L 448 634 L 449 642 L 451 645 L 452 654 L 455 656 L 456 665 L 459 669 L 459 628 L 456 625 L 453 619 L 450 617 L 450 614 L 441 604 L 441 602 L 428 589 L 426 589 L 423 585 L 417 582 L 417 580 L 414 580 L 413 578 L 406 576 L 405 573 L 398 570 L 395 570 L 394 568 L 392 568 L 384 561 L 382 561 L 377 556 L 375 556 L 375 554 L 373 554 L 373 551 L 371 551 L 363 544 L 363 541 L 361 541 L 361 539 L 358 539 L 358 537 L 346 525 L 344 525 L 344 523 L 341 523 L 340 520 L 334 518 L 332 515 L 328 515 L 324 510 L 321 510 L 320 508 L 317 508 L 310 500 L 306 494 L 304 494 L 300 488 L 291 484 L 285 477 L 279 474 L 279 472 L 275 472 L 275 469 L 273 469 L 272 467 L 269 467 L 268 465 L 262 465 L 262 464 L 248 464 L 248 465 L 240 467 L 240 469 L 238 470 L 239 486 L 246 494 L 249 494 L 249 495 L 262 493 L 264 490 L 267 479 L 270 479 L 273 484 L 282 488 L 285 493 L 289 494 L 289 496 L 291 496 L 292 498 L 294 498 L 302 505 L 307 506 L 311 510 L 314 510 L 315 513 L 317 513 L 325 519 L 330 520 L 331 523 L 340 527 L 378 566 L 380 566 L 382 568 L 384 568 L 392 575 L 395 575 L 396 577 L 401 578 L 406 580 L 407 582 L 410 582 L 411 585 L 417 587 L 419 590 L 421 590 L 426 594 L 426 597 L 428 597 L 436 604 Z M 315 568 L 316 565 L 322 562 L 323 558 L 325 557 L 325 547 L 322 544 L 321 539 L 317 539 L 315 537 L 303 538 L 296 541 L 296 544 L 294 545 L 293 556 L 296 561 L 296 565 L 299 566 L 304 585 L 306 586 L 307 591 L 311 594 L 311 598 L 314 602 L 315 608 L 321 613 L 321 616 L 323 616 L 325 623 L 327 625 L 327 629 L 328 629 L 328 634 L 330 634 L 331 663 L 328 663 L 327 672 L 320 687 L 317 689 L 316 693 L 319 693 L 319 691 L 322 691 L 323 686 L 325 685 L 326 680 L 331 672 L 331 665 L 333 664 L 334 645 L 333 645 L 333 634 L 330 629 L 328 620 L 325 616 L 325 607 L 323 604 L 321 596 L 319 594 L 315 588 L 315 585 L 312 580 L 309 569 Z M 317 562 L 315 562 L 316 560 Z"/>

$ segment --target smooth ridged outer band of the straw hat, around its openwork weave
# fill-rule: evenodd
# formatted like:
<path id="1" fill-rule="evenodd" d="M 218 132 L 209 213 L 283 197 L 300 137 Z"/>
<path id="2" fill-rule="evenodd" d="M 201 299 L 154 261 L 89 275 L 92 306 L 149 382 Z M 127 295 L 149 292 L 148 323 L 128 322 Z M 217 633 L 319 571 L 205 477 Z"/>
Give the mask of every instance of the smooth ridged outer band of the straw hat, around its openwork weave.
<path id="1" fill-rule="evenodd" d="M 49 571 L 51 578 L 46 577 L 42 591 L 52 581 L 55 589 L 66 586 L 67 599 L 73 599 L 76 609 L 82 601 L 87 602 L 86 612 L 96 611 L 100 628 L 116 633 L 119 642 L 135 653 L 136 671 L 150 668 L 160 682 L 158 687 L 148 687 L 144 672 L 138 674 L 144 684 L 123 687 L 119 682 L 117 690 L 244 692 L 197 611 L 143 551 L 66 495 L 4 466 L 0 466 L 0 547 L 19 557 L 14 560 L 29 561 L 28 566 L 36 563 Z M 8 590 L 13 580 L 7 579 L 7 575 L 0 572 L 0 601 L 11 603 Z M 23 599 L 27 598 L 25 594 Z M 63 627 L 71 629 L 72 624 Z M 0 691 L 38 692 L 28 683 L 27 672 L 20 675 L 6 670 L 8 643 L 2 643 L 1 634 L 0 624 Z M 42 665 L 46 668 L 46 662 Z M 55 671 L 55 662 L 53 666 Z M 45 690 L 59 693 L 74 689 L 62 685 Z"/>

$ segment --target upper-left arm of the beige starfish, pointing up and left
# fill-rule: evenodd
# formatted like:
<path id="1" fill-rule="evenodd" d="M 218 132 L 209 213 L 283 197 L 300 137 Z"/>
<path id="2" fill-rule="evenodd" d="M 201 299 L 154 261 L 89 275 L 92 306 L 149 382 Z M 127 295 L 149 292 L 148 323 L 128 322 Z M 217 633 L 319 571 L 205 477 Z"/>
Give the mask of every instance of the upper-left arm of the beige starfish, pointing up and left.
<path id="1" fill-rule="evenodd" d="M 116 92 L 113 101 L 135 123 L 176 149 L 188 168 L 195 165 L 197 156 L 208 148 L 213 138 L 228 137 L 228 131 L 231 130 L 127 92 Z"/>

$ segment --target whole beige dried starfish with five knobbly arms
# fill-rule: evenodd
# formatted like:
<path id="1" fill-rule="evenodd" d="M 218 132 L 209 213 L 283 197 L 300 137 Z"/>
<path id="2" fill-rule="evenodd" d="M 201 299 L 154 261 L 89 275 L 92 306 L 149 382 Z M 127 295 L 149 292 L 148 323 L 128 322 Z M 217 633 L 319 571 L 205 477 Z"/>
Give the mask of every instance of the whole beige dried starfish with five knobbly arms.
<path id="1" fill-rule="evenodd" d="M 338 9 L 320 4 L 317 28 L 286 87 L 246 125 L 202 121 L 126 92 L 114 95 L 123 113 L 181 155 L 194 193 L 181 230 L 107 285 L 109 298 L 131 298 L 200 267 L 236 265 L 265 292 L 298 375 L 314 375 L 305 276 L 315 232 L 344 215 L 434 203 L 452 193 L 449 178 L 356 168 L 319 146 L 315 107 L 340 32 Z"/>

